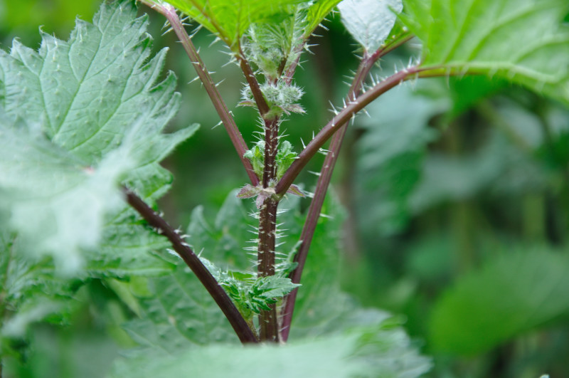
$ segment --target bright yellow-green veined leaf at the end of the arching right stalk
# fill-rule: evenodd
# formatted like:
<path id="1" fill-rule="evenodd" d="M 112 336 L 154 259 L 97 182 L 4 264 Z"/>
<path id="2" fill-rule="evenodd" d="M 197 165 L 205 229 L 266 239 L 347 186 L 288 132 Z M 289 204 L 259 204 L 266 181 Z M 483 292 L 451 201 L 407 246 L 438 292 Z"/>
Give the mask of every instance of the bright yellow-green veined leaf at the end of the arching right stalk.
<path id="1" fill-rule="evenodd" d="M 565 0 L 406 0 L 425 69 L 498 75 L 569 102 Z M 523 43 L 520 43 L 523 41 Z"/>

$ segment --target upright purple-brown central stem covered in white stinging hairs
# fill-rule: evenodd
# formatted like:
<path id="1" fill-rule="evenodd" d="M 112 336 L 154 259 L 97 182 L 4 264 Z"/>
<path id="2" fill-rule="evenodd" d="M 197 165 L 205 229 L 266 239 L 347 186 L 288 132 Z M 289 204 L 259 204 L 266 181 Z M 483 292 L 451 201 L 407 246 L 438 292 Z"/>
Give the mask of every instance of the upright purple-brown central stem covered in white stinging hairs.
<path id="1" fill-rule="evenodd" d="M 262 187 L 268 188 L 275 181 L 279 144 L 279 119 L 265 120 L 265 168 L 262 175 Z M 259 212 L 259 244 L 257 248 L 257 271 L 261 277 L 275 275 L 275 240 L 277 231 L 277 207 L 279 201 L 269 197 L 263 202 Z M 279 323 L 277 307 L 270 305 L 269 310 L 262 310 L 259 316 L 260 340 L 278 342 Z"/>

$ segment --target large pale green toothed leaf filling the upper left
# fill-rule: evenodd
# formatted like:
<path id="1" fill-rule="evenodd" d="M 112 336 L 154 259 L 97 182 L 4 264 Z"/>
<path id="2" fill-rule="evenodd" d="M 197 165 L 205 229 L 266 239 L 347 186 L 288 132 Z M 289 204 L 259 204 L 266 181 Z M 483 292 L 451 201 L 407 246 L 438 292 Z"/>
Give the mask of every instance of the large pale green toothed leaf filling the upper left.
<path id="1" fill-rule="evenodd" d="M 134 16 L 130 1 L 104 4 L 69 41 L 0 50 L 0 209 L 23 250 L 67 273 L 123 211 L 118 184 L 164 193 L 159 161 L 196 130 L 162 134 L 180 96 L 172 73 L 158 81 L 166 51 L 151 58 L 147 17 Z"/>

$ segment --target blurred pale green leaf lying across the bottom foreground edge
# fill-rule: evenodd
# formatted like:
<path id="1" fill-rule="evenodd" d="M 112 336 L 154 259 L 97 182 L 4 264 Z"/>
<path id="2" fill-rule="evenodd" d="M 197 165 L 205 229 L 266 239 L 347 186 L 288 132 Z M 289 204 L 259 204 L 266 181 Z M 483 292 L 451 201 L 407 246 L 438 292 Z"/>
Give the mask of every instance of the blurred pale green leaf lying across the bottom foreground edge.
<path id="1" fill-rule="evenodd" d="M 368 348 L 373 354 L 383 345 L 369 337 L 343 335 L 290 342 L 287 345 L 208 345 L 176 356 L 139 357 L 115 364 L 111 377 L 418 377 L 429 369 L 425 360 L 400 364 L 385 359 L 381 364 L 354 352 Z M 399 351 L 403 352 L 403 351 Z"/>

